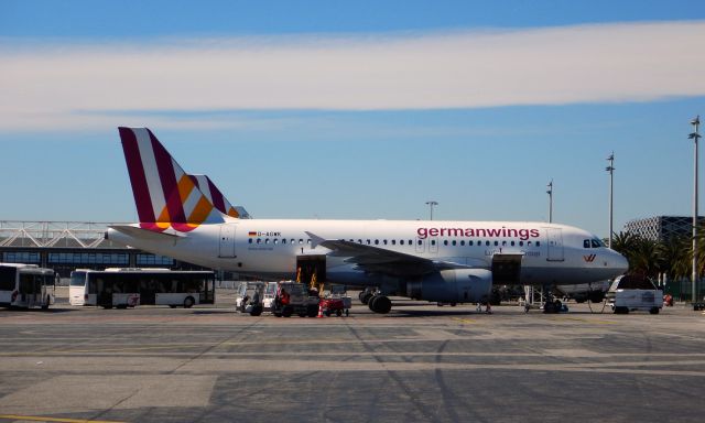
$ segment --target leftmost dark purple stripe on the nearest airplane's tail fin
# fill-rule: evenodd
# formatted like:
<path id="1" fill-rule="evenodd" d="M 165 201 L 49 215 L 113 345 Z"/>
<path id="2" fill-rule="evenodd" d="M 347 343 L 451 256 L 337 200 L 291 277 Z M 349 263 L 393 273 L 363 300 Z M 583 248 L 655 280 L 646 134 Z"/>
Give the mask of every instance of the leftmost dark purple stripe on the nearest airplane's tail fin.
<path id="1" fill-rule="evenodd" d="M 152 210 L 152 199 L 150 189 L 147 185 L 147 176 L 142 166 L 142 158 L 140 149 L 137 144 L 137 135 L 130 128 L 120 127 L 120 140 L 122 141 L 122 152 L 124 161 L 128 164 L 128 173 L 130 174 L 130 184 L 132 185 L 132 194 L 134 195 L 134 204 L 137 205 L 137 214 L 140 223 L 156 221 L 154 212 Z"/>

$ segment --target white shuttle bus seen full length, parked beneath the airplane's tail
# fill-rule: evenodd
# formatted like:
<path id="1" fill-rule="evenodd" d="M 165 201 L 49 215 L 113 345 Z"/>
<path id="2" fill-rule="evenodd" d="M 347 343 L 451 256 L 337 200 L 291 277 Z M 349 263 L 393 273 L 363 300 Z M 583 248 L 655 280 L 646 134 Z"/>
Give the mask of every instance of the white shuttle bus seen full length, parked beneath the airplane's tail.
<path id="1" fill-rule="evenodd" d="M 215 302 L 215 273 L 169 269 L 76 269 L 70 273 L 72 305 L 126 308 L 140 304 L 192 307 Z"/>

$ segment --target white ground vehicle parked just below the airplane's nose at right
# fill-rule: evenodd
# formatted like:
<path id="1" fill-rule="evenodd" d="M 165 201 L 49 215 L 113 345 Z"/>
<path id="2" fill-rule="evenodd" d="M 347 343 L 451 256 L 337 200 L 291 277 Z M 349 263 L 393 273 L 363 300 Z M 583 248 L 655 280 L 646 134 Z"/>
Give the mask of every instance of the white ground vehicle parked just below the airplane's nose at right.
<path id="1" fill-rule="evenodd" d="M 663 291 L 643 276 L 622 275 L 615 279 L 607 292 L 607 305 L 616 314 L 643 310 L 659 314 L 663 307 Z"/>

